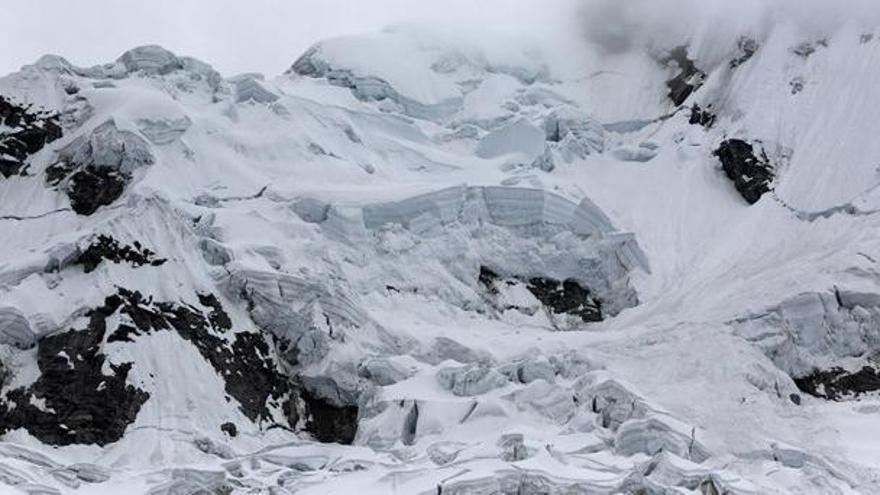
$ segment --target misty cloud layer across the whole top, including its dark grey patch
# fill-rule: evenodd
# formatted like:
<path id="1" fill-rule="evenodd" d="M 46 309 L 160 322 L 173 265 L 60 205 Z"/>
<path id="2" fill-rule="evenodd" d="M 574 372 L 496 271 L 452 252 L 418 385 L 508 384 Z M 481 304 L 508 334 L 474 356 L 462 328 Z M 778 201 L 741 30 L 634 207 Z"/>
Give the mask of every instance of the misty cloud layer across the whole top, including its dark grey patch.
<path id="1" fill-rule="evenodd" d="M 580 8 L 580 16 L 572 15 Z M 697 38 L 761 38 L 780 22 L 806 34 L 880 26 L 878 0 L 40 0 L 8 2 L 0 74 L 46 53 L 89 66 L 158 43 L 225 75 L 278 74 L 321 39 L 427 22 L 538 38 L 581 29 L 606 51 Z M 573 24 L 579 23 L 575 27 Z M 819 34 L 815 34 L 819 36 Z M 577 50 L 577 47 L 571 48 Z"/>

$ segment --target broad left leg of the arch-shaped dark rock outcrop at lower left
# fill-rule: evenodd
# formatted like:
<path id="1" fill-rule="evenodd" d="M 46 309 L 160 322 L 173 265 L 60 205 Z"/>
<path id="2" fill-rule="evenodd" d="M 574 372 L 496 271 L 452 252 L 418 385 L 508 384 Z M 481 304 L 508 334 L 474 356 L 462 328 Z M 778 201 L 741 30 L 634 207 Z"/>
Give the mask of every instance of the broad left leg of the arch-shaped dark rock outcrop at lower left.
<path id="1" fill-rule="evenodd" d="M 0 403 L 0 431 L 25 428 L 51 445 L 103 446 L 122 438 L 149 394 L 126 383 L 132 363 L 111 364 L 109 375 L 102 371 L 105 319 L 121 302 L 111 296 L 91 311 L 88 328 L 39 341 L 40 377 L 7 393 L 7 402 Z M 40 402 L 44 407 L 35 405 Z"/>

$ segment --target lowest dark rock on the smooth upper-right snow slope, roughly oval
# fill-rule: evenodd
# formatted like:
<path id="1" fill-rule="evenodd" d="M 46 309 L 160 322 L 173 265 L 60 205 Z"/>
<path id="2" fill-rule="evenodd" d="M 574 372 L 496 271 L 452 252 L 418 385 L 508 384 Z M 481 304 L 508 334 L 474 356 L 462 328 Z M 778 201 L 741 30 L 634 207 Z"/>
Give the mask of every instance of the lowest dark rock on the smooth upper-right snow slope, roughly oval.
<path id="1" fill-rule="evenodd" d="M 728 139 L 721 143 L 715 156 L 736 190 L 749 204 L 755 204 L 770 191 L 774 171 L 767 154 L 755 154 L 754 147 L 741 139 Z"/>

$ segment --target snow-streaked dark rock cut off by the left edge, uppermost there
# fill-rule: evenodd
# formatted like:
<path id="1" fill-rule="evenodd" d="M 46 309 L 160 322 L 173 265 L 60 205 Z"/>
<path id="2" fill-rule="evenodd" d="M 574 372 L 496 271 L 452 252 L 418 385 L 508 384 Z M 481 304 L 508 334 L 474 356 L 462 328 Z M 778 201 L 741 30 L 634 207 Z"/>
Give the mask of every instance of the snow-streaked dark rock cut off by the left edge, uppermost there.
<path id="1" fill-rule="evenodd" d="M 0 175 L 23 175 L 27 157 L 61 137 L 59 117 L 15 105 L 0 95 L 0 124 L 11 128 L 0 132 Z"/>

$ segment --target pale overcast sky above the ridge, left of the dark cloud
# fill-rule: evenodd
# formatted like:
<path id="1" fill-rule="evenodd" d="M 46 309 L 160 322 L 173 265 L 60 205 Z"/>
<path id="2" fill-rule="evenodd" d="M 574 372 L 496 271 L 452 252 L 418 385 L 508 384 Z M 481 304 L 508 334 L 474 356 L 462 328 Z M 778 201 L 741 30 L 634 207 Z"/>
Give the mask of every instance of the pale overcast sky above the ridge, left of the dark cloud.
<path id="1" fill-rule="evenodd" d="M 430 22 L 540 36 L 576 0 L 4 0 L 0 74 L 41 55 L 75 65 L 160 44 L 226 76 L 279 74 L 313 42 Z"/>

